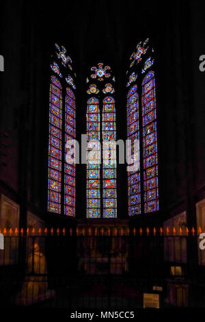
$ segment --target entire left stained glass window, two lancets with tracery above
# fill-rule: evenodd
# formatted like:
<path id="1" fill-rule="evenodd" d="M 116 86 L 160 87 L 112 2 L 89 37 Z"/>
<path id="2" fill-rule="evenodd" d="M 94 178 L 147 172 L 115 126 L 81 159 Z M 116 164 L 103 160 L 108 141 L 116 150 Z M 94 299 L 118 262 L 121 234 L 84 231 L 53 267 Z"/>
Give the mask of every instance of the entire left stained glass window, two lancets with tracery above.
<path id="1" fill-rule="evenodd" d="M 75 138 L 75 74 L 64 46 L 55 44 L 50 66 L 48 211 L 74 216 L 75 166 L 66 161 L 66 143 Z"/>

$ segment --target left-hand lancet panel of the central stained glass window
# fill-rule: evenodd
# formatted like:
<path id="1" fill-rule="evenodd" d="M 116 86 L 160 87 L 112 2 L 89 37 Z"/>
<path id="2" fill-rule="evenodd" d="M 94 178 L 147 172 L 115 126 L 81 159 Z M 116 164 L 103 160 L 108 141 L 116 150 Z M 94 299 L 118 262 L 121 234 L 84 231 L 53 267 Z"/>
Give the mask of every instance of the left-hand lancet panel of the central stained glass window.
<path id="1" fill-rule="evenodd" d="M 100 218 L 100 110 L 98 99 L 87 101 L 87 218 Z"/>

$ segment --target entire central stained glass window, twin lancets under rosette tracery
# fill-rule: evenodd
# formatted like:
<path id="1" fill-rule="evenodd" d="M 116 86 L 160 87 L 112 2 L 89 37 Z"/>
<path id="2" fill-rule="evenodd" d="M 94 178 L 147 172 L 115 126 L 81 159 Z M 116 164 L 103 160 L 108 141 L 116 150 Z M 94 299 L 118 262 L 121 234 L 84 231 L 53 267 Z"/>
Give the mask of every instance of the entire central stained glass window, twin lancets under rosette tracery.
<path id="1" fill-rule="evenodd" d="M 117 217 L 115 99 L 111 68 L 99 63 L 87 78 L 87 218 Z"/>

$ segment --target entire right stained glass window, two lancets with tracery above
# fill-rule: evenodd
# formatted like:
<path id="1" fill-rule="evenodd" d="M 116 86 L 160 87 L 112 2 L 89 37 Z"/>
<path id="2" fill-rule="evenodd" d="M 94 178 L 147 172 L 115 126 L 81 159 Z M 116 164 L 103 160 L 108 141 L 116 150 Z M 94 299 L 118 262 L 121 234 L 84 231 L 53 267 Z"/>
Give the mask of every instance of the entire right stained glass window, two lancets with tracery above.
<path id="1" fill-rule="evenodd" d="M 139 140 L 139 169 L 128 172 L 128 214 L 159 210 L 158 148 L 154 49 L 149 39 L 139 42 L 127 71 L 127 137 Z M 152 66 L 153 69 L 153 66 Z"/>

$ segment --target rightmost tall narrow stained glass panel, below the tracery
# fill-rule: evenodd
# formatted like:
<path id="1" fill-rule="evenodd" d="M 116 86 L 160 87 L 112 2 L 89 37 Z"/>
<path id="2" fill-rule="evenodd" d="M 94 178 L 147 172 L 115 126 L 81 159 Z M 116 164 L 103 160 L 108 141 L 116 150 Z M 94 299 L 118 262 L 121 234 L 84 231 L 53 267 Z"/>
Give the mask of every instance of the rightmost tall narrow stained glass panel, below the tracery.
<path id="1" fill-rule="evenodd" d="M 159 210 L 158 158 L 156 138 L 156 92 L 154 72 L 142 82 L 143 190 L 144 212 Z"/>

